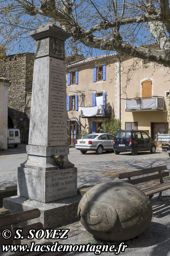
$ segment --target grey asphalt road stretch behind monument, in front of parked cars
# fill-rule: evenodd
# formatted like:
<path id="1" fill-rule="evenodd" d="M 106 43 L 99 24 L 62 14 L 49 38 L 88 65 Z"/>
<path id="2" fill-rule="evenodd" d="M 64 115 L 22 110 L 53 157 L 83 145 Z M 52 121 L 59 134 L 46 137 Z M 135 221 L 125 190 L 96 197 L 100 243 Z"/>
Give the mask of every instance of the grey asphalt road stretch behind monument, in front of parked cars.
<path id="1" fill-rule="evenodd" d="M 26 145 L 17 148 L 9 146 L 8 151 L 0 151 L 0 187 L 17 184 L 17 167 L 27 159 Z M 170 157 L 167 153 L 141 152 L 136 156 L 131 153 L 95 152 L 81 154 L 79 150 L 70 148 L 69 160 L 78 169 L 78 187 L 87 184 L 95 185 L 113 178 L 118 173 L 136 169 L 167 165 L 170 171 Z"/>

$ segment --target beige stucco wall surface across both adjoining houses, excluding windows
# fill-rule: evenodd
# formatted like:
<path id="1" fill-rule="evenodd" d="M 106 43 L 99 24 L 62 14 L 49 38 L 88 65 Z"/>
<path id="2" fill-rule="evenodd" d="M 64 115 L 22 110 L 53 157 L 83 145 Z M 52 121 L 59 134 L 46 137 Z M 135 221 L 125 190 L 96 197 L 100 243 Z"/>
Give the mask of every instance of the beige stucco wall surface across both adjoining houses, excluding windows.
<path id="1" fill-rule="evenodd" d="M 106 64 L 106 81 L 93 82 L 93 67 Z M 81 104 L 80 93 L 84 93 L 84 105 L 92 104 L 92 93 L 106 92 L 107 101 L 112 106 L 112 115 L 119 118 L 119 63 L 118 58 L 111 57 L 105 61 L 94 61 L 93 63 L 77 64 L 69 67 L 68 71 L 78 70 L 78 85 L 67 86 L 67 95 L 78 94 L 79 106 Z M 164 109 L 168 109 L 169 100 L 165 92 L 170 90 L 170 75 L 168 68 L 162 65 L 148 63 L 143 65 L 142 60 L 124 57 L 121 64 L 121 123 L 125 129 L 125 122 L 138 122 L 138 129 L 149 130 L 151 134 L 151 122 L 167 122 L 170 127 L 167 114 L 160 110 L 152 111 L 125 111 L 125 98 L 142 97 L 142 81 L 152 80 L 152 96 L 164 97 Z M 127 80 L 129 83 L 127 84 Z M 68 111 L 68 117 L 79 119 L 80 112 Z M 92 128 L 92 122 L 107 121 L 106 118 L 81 118 L 82 129 Z M 91 130 L 90 130 L 91 132 Z"/>

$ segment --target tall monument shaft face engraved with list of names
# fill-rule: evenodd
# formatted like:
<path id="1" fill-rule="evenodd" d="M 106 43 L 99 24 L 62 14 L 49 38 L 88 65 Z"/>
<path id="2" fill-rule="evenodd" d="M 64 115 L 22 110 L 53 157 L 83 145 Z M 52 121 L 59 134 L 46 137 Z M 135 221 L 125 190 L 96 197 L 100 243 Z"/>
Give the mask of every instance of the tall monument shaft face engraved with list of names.
<path id="1" fill-rule="evenodd" d="M 65 62 L 49 59 L 47 146 L 64 146 L 67 139 Z"/>

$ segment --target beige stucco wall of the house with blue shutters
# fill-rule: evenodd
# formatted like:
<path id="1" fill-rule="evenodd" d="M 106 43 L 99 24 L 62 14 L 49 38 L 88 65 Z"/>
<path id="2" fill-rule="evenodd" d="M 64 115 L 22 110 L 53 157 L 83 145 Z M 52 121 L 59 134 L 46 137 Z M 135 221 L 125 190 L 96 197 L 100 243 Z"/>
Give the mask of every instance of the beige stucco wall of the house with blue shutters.
<path id="1" fill-rule="evenodd" d="M 106 65 L 106 80 L 93 82 L 93 67 L 95 66 Z M 118 77 L 116 75 L 116 65 L 117 58 L 113 57 L 107 60 L 100 60 L 100 62 L 94 61 L 93 63 L 82 64 L 74 67 L 70 67 L 69 71 L 74 72 L 78 70 L 78 85 L 67 85 L 67 95 L 75 95 L 78 94 L 78 106 L 81 106 L 82 98 L 80 97 L 81 93 L 77 92 L 82 91 L 84 94 L 84 102 L 82 106 L 92 106 L 92 94 L 93 93 L 103 93 L 106 92 L 107 102 L 110 103 L 112 107 L 112 115 L 119 113 L 117 112 L 117 108 L 115 107 L 118 101 Z M 115 77 L 115 78 L 114 78 Z M 113 82 L 114 79 L 114 82 Z M 79 119 L 80 112 L 79 111 L 68 111 L 68 117 L 78 118 Z M 81 118 L 81 127 L 82 129 L 90 128 L 89 132 L 92 132 L 92 122 L 103 122 L 107 121 L 108 118 Z"/>

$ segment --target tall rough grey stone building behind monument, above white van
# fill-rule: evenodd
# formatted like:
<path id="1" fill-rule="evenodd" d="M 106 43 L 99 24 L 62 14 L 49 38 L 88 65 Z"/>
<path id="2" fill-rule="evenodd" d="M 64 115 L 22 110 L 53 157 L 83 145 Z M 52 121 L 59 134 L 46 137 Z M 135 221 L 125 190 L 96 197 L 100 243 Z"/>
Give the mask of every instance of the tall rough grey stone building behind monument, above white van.
<path id="1" fill-rule="evenodd" d="M 22 142 L 27 142 L 29 115 L 27 92 L 32 90 L 34 53 L 3 56 L 0 75 L 9 79 L 8 86 L 8 127 L 20 129 Z"/>

